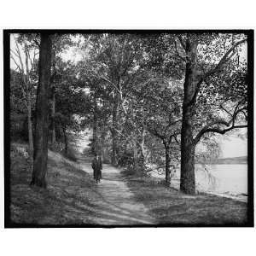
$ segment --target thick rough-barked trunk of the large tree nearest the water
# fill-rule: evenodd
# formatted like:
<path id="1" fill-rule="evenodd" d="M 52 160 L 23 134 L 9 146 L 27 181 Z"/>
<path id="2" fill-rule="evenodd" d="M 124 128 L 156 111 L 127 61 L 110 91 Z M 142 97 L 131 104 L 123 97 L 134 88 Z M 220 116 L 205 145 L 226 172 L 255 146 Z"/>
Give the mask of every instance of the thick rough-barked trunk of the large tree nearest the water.
<path id="1" fill-rule="evenodd" d="M 186 64 L 185 81 L 183 84 L 183 121 L 181 131 L 181 181 L 180 189 L 186 194 L 195 194 L 195 145 L 193 139 L 193 119 L 195 117 L 195 99 L 197 70 L 197 43 L 187 40 L 186 53 L 189 61 Z"/>

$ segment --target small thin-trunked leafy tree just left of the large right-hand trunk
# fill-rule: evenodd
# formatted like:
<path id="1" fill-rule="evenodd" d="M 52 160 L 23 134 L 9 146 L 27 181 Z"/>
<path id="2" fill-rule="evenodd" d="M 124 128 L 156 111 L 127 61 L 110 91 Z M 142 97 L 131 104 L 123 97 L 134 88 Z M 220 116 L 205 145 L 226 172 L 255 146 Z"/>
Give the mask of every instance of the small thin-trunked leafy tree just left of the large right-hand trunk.
<path id="1" fill-rule="evenodd" d="M 165 148 L 166 184 L 171 183 L 171 162 L 176 160 L 179 145 L 177 137 L 180 135 L 182 96 L 180 84 L 160 79 L 159 83 L 154 83 L 154 94 L 145 97 L 148 131 L 158 137 Z"/>

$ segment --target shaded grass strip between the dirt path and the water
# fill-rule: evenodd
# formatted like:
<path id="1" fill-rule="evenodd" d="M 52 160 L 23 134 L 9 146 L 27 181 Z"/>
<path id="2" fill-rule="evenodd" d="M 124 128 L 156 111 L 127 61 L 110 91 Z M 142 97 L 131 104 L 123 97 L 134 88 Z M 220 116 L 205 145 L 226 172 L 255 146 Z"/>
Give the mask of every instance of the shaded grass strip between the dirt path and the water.
<path id="1" fill-rule="evenodd" d="M 148 207 L 158 224 L 245 225 L 247 203 L 216 195 L 185 195 L 167 188 L 154 177 L 128 176 L 128 186 L 139 202 Z"/>

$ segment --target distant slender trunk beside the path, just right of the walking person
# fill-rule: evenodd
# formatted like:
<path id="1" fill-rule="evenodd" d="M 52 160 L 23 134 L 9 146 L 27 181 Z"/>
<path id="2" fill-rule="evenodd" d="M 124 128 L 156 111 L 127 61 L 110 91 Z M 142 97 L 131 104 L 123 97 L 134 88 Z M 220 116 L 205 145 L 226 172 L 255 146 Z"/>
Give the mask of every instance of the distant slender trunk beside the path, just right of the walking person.
<path id="1" fill-rule="evenodd" d="M 112 129 L 112 159 L 111 163 L 113 166 L 118 165 L 118 155 L 119 155 L 119 137 L 118 137 L 118 125 L 119 121 L 119 96 L 115 96 L 115 102 L 113 105 L 113 129 Z"/>

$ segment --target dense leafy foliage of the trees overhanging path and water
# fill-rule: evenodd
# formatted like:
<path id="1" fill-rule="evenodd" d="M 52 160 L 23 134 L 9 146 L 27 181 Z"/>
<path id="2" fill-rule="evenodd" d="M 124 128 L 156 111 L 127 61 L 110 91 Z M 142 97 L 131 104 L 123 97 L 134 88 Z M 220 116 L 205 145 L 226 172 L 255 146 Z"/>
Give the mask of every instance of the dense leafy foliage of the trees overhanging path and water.
<path id="1" fill-rule="evenodd" d="M 29 56 L 37 54 L 38 34 L 20 34 L 16 39 Z M 183 99 L 188 92 L 184 84 L 193 58 L 196 86 L 191 87 L 193 93 L 189 91 L 189 103 L 195 105 L 190 119 L 192 137 L 195 144 L 201 142 L 207 148 L 195 155 L 196 160 L 218 158 L 216 133 L 247 125 L 247 63 L 241 58 L 244 34 L 55 34 L 52 40 L 49 98 L 54 91 L 55 116 L 50 116 L 49 128 L 53 129 L 54 119 L 59 142 L 64 140 L 63 129 L 77 132 L 89 127 L 96 131 L 106 162 L 114 149 L 119 165 L 141 171 L 162 168 L 168 145 L 172 166 L 177 167 L 187 103 Z M 189 55 L 190 46 L 195 47 L 195 55 Z M 69 51 L 79 61 L 65 61 L 63 55 Z M 30 58 L 30 62 L 26 72 L 11 70 L 13 136 L 15 129 L 19 133 L 24 126 L 24 92 L 31 92 L 34 111 L 38 58 Z M 22 90 L 26 88 L 24 75 L 30 81 L 29 90 Z"/>

